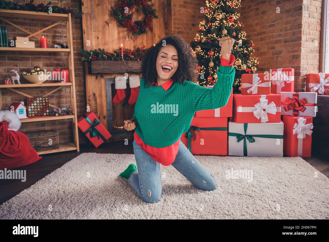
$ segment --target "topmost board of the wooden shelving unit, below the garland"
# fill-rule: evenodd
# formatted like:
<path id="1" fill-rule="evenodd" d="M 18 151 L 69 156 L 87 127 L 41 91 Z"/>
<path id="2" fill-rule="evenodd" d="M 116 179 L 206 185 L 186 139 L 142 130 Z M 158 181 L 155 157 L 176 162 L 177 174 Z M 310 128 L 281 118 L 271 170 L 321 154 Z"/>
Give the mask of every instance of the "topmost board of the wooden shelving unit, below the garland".
<path id="1" fill-rule="evenodd" d="M 22 11 L 22 10 L 7 10 L 0 9 L 0 16 L 2 17 L 20 17 L 20 18 L 35 18 L 35 19 L 53 19 L 53 20 L 66 20 L 68 18 L 67 13 L 42 13 L 34 11 Z"/>

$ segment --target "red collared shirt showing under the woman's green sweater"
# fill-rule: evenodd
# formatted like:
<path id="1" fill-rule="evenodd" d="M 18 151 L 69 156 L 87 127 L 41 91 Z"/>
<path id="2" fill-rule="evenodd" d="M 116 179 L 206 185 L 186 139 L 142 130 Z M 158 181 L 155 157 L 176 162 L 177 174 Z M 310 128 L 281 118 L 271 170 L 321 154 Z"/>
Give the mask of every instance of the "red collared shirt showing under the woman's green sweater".
<path id="1" fill-rule="evenodd" d="M 231 54 L 230 60 L 220 58 L 220 64 L 222 66 L 233 66 L 235 61 L 235 56 Z M 170 78 L 168 81 L 166 81 L 164 84 L 162 84 L 162 88 L 167 91 L 171 84 L 173 83 L 172 79 Z M 156 85 L 158 86 L 157 83 L 152 82 L 149 84 L 150 85 Z M 136 119 L 134 119 L 137 121 Z M 157 147 L 152 147 L 147 144 L 145 144 L 142 139 L 139 137 L 139 135 L 135 132 L 134 133 L 134 139 L 136 141 L 136 144 L 138 144 L 147 154 L 149 154 L 155 161 L 161 163 L 164 166 L 169 166 L 171 165 L 178 153 L 178 148 L 179 148 L 179 143 L 181 139 L 178 139 L 174 144 L 168 147 L 162 147 L 162 148 L 157 148 Z"/>

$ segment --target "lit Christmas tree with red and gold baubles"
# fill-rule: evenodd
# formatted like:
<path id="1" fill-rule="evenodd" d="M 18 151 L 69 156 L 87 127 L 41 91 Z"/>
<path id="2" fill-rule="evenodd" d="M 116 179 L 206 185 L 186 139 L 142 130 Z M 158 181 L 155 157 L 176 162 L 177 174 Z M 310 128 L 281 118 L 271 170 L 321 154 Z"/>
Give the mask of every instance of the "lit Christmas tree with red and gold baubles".
<path id="1" fill-rule="evenodd" d="M 220 65 L 219 39 L 225 36 L 235 39 L 232 54 L 235 56 L 236 70 L 233 83 L 233 93 L 241 93 L 241 74 L 256 73 L 258 58 L 250 57 L 254 51 L 251 39 L 246 39 L 242 30 L 244 24 L 239 21 L 241 0 L 207 0 L 204 20 L 199 24 L 199 31 L 192 41 L 198 59 L 198 84 L 200 86 L 214 85 L 217 81 L 216 70 Z"/>

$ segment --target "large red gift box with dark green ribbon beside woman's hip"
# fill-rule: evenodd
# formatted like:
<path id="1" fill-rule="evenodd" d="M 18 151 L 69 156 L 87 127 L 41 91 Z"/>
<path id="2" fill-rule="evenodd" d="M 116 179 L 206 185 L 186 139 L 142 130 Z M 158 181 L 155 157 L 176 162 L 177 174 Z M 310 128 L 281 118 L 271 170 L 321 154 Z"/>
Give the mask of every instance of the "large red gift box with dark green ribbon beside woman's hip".
<path id="1" fill-rule="evenodd" d="M 193 117 L 181 140 L 194 155 L 227 155 L 227 118 Z"/>

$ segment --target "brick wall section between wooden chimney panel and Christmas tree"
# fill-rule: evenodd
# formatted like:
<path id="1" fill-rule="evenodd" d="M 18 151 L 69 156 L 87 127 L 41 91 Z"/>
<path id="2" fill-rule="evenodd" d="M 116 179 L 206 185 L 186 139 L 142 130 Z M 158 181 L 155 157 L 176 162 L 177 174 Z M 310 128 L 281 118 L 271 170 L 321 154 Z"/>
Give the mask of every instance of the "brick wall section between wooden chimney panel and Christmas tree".
<path id="1" fill-rule="evenodd" d="M 206 7 L 204 0 L 172 0 L 173 34 L 192 41 L 198 31 L 199 22 L 203 20 L 201 7 Z"/>

